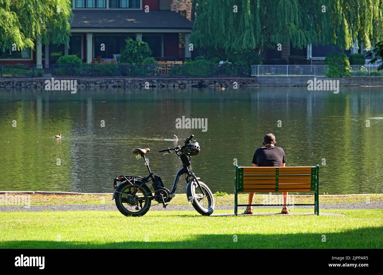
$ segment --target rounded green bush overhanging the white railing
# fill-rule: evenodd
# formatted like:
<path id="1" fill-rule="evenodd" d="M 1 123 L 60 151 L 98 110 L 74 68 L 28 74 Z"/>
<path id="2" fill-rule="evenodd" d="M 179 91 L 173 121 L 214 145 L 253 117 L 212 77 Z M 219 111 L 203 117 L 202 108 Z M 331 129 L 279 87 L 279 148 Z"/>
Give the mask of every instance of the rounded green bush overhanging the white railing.
<path id="1" fill-rule="evenodd" d="M 324 64 L 329 65 L 329 69 L 326 72 L 328 77 L 350 76 L 350 62 L 347 55 L 343 52 L 332 52 L 327 55 Z"/>

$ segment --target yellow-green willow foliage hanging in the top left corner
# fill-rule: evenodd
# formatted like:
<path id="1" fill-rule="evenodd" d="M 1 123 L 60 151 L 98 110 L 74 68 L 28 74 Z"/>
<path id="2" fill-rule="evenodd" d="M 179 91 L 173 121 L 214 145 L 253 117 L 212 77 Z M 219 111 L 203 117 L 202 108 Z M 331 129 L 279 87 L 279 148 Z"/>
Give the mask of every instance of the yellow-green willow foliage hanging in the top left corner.
<path id="1" fill-rule="evenodd" d="M 0 0 L 0 50 L 43 44 L 68 44 L 70 0 Z"/>

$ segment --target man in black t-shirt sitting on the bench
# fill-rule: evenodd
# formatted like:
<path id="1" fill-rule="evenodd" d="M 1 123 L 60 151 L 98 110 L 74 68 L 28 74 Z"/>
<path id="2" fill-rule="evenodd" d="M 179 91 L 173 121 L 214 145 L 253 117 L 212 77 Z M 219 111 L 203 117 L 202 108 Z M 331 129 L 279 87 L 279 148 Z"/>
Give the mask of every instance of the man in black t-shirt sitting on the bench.
<path id="1" fill-rule="evenodd" d="M 255 150 L 253 157 L 254 167 L 285 167 L 286 155 L 282 148 L 277 147 L 275 142 L 275 136 L 272 133 L 268 133 L 264 136 L 263 147 Z M 253 204 L 255 192 L 249 192 L 249 204 Z M 282 192 L 283 203 L 285 205 L 282 208 L 282 214 L 288 214 L 289 210 L 287 207 L 287 194 L 288 192 Z M 252 214 L 253 209 L 251 206 L 246 207 L 245 214 Z"/>

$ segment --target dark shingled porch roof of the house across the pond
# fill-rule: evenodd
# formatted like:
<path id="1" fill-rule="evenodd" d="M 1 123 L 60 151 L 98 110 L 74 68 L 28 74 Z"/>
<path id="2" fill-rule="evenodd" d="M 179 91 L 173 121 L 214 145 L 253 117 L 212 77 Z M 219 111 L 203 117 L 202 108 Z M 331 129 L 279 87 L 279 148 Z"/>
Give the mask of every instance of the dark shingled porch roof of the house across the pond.
<path id="1" fill-rule="evenodd" d="M 72 28 L 192 29 L 193 24 L 175 11 L 73 10 Z"/>

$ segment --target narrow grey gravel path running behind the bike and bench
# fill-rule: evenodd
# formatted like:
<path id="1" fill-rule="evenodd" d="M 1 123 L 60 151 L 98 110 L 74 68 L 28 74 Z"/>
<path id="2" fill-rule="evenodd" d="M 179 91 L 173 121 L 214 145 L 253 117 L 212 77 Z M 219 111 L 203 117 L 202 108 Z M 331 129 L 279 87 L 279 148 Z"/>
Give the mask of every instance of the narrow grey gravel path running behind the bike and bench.
<path id="1" fill-rule="evenodd" d="M 256 208 L 281 208 L 282 206 L 267 206 L 267 207 L 255 207 Z M 313 206 L 297 206 L 295 208 L 312 208 Z M 233 205 L 220 205 L 216 206 L 216 210 L 231 210 L 234 211 Z M 243 212 L 245 207 L 239 207 L 238 212 Z M 290 209 L 294 209 L 290 207 Z M 383 203 L 347 203 L 347 204 L 326 204 L 319 205 L 319 211 L 327 209 L 383 209 Z M 115 205 L 47 205 L 47 206 L 0 206 L 0 212 L 13 212 L 13 211 L 27 211 L 27 212 L 39 212 L 39 211 L 84 211 L 84 210 L 97 210 L 97 211 L 118 211 Z M 160 205 L 155 205 L 150 210 L 160 211 L 182 211 L 182 210 L 194 210 L 190 206 L 183 205 L 168 205 L 167 208 L 163 208 Z"/>

